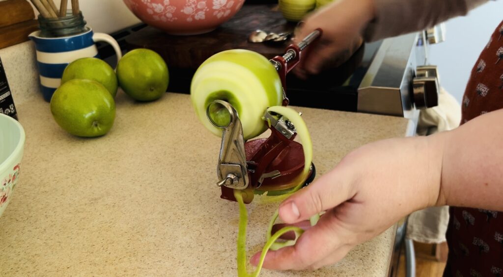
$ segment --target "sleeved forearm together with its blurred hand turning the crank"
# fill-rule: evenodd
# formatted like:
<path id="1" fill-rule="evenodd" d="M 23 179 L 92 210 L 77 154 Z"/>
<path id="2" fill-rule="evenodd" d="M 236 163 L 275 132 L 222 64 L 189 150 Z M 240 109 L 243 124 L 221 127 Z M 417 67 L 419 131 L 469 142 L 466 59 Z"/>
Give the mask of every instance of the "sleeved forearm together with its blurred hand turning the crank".
<path id="1" fill-rule="evenodd" d="M 423 30 L 449 18 L 465 15 L 487 0 L 337 0 L 305 19 L 296 34 L 303 39 L 317 28 L 319 42 L 295 73 L 301 78 L 348 60 L 367 41 Z"/>

